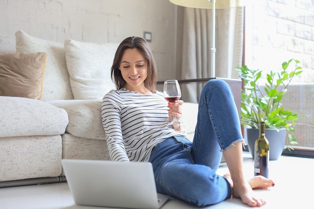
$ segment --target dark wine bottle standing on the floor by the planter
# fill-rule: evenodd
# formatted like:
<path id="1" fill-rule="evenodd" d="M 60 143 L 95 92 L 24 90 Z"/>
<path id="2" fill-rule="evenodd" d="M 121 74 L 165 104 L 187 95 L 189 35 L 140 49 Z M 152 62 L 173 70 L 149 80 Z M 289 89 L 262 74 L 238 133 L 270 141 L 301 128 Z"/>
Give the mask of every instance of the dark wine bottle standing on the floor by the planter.
<path id="1" fill-rule="evenodd" d="M 265 137 L 265 122 L 259 124 L 259 137 L 255 141 L 254 175 L 268 178 L 269 143 Z"/>

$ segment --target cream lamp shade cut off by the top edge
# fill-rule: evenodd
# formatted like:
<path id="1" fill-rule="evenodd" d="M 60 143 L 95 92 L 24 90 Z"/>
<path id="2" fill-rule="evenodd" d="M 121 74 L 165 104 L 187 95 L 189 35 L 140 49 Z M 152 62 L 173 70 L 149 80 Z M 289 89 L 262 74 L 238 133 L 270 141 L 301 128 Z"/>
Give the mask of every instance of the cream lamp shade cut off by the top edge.
<path id="1" fill-rule="evenodd" d="M 209 0 L 170 0 L 171 3 L 182 7 L 190 7 L 197 9 L 212 9 L 212 4 Z M 245 0 L 217 0 L 216 9 L 244 7 Z"/>

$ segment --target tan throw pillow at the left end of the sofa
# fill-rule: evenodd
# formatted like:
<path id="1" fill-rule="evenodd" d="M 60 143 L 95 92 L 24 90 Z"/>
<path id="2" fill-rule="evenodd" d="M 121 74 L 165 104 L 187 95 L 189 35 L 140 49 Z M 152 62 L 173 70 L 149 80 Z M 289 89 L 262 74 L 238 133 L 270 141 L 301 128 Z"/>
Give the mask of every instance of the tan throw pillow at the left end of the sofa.
<path id="1" fill-rule="evenodd" d="M 0 96 L 40 99 L 47 53 L 0 54 Z"/>

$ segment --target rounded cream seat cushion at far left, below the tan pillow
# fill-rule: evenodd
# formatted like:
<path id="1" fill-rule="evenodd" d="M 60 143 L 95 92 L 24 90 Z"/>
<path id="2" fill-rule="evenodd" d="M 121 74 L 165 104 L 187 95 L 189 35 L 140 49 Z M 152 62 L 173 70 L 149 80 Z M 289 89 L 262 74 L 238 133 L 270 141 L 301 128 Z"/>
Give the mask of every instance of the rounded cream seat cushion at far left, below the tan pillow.
<path id="1" fill-rule="evenodd" d="M 48 136 L 65 132 L 68 114 L 44 101 L 0 96 L 0 137 Z"/>

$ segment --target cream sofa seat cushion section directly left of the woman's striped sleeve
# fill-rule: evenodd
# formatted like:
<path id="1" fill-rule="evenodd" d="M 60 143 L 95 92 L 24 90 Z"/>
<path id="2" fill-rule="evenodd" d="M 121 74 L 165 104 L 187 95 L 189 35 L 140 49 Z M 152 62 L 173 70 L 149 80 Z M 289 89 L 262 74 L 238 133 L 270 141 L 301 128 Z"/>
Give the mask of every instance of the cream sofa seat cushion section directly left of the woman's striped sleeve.
<path id="1" fill-rule="evenodd" d="M 101 100 L 61 100 L 49 103 L 68 112 L 67 133 L 83 138 L 106 139 L 100 115 Z"/>

